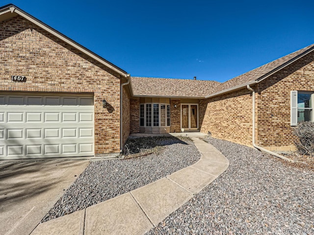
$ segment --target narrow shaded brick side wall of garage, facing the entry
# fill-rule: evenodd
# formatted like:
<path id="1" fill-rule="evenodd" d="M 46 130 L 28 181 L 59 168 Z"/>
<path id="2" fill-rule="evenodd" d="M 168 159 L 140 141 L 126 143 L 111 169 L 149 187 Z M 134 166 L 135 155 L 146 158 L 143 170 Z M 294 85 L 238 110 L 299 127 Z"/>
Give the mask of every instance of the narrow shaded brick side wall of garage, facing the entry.
<path id="1" fill-rule="evenodd" d="M 125 86 L 123 87 L 123 96 L 122 96 L 122 146 L 124 146 L 130 135 L 130 95 L 126 91 Z"/>

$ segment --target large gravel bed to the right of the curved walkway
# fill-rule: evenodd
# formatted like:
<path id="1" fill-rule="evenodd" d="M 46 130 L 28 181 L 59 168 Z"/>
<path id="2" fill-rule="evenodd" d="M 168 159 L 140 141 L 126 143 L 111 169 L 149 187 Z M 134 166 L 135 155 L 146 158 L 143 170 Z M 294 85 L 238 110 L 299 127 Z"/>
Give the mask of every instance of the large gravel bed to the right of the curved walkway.
<path id="1" fill-rule="evenodd" d="M 314 170 L 209 138 L 230 165 L 152 234 L 314 234 Z"/>

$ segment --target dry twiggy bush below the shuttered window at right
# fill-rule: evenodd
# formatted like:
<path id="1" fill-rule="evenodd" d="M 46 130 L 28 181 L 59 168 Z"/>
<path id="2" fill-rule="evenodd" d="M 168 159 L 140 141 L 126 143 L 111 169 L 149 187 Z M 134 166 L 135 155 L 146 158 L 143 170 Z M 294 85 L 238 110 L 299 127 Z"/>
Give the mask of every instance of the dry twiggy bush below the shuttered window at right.
<path id="1" fill-rule="evenodd" d="M 294 128 L 295 146 L 301 154 L 314 157 L 314 122 L 302 121 Z"/>

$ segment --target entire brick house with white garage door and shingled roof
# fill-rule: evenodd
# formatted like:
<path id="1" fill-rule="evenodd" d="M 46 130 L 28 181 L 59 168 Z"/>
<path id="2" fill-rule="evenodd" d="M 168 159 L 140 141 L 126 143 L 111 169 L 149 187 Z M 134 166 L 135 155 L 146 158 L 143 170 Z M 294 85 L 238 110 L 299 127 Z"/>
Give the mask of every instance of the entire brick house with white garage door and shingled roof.
<path id="1" fill-rule="evenodd" d="M 292 127 L 314 120 L 314 45 L 224 83 L 130 77 L 9 4 L 0 54 L 0 160 L 118 155 L 130 133 L 290 150 Z"/>

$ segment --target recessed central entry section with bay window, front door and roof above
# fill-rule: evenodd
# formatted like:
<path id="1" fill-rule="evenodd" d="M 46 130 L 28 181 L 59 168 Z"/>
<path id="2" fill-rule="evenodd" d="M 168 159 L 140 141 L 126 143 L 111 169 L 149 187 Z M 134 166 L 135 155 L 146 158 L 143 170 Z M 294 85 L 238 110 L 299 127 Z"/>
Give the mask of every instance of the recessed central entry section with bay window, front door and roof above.
<path id="1" fill-rule="evenodd" d="M 199 105 L 220 83 L 131 77 L 131 133 L 200 131 Z"/>

